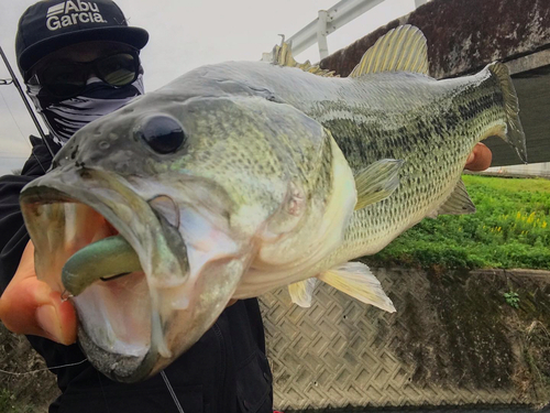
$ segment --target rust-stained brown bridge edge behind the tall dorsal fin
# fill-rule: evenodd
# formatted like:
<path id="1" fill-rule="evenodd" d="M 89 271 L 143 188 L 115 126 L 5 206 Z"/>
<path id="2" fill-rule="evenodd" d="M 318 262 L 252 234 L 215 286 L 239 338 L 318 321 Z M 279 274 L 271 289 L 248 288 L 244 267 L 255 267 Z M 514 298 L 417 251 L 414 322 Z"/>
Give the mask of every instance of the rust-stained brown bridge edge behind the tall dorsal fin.
<path id="1" fill-rule="evenodd" d="M 331 54 L 321 67 L 348 76 L 381 35 L 400 24 L 416 25 L 426 35 L 430 74 L 436 78 L 472 73 L 490 62 L 513 61 L 550 47 L 547 0 L 432 0 Z"/>

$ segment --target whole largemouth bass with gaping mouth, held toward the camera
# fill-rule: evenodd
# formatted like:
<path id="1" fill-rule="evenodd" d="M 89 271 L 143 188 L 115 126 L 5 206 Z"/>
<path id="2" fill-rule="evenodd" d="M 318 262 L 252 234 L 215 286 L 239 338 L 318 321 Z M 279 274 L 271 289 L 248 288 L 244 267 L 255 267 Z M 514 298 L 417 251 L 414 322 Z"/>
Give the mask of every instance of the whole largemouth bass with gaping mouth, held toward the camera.
<path id="1" fill-rule="evenodd" d="M 395 311 L 366 265 L 425 217 L 474 211 L 460 176 L 498 135 L 525 160 L 506 66 L 428 76 L 398 28 L 348 78 L 298 65 L 195 69 L 89 123 L 21 206 L 36 272 L 67 291 L 89 360 L 136 381 L 193 346 L 231 298 L 321 280 Z M 63 275 L 62 275 L 63 273 Z"/>

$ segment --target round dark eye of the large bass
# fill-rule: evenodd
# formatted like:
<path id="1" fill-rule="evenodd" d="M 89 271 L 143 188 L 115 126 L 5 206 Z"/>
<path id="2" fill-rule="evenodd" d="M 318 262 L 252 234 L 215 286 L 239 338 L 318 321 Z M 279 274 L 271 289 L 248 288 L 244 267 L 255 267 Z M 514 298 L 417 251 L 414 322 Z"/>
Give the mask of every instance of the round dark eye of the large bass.
<path id="1" fill-rule="evenodd" d="M 166 115 L 147 118 L 136 131 L 136 134 L 153 151 L 161 154 L 176 152 L 186 141 L 182 123 Z"/>

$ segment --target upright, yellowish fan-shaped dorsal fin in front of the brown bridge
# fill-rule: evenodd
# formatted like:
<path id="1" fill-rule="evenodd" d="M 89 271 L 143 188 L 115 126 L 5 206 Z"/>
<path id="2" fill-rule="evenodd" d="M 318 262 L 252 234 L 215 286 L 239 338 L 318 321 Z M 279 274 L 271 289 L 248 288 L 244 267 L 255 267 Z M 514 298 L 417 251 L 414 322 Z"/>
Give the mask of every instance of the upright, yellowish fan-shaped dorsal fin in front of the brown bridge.
<path id="1" fill-rule="evenodd" d="M 407 24 L 387 32 L 366 51 L 350 77 L 381 72 L 428 75 L 428 46 L 420 29 Z"/>

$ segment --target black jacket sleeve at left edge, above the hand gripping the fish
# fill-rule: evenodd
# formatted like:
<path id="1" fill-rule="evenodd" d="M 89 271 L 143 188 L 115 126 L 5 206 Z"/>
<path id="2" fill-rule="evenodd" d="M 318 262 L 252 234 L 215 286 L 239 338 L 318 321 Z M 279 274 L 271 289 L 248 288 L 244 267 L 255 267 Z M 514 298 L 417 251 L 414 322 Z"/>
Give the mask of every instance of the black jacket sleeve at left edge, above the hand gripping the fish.
<path id="1" fill-rule="evenodd" d="M 44 175 L 52 163 L 52 156 L 42 140 L 31 137 L 31 142 L 33 153 L 23 166 L 21 175 L 0 177 L 0 293 L 13 278 L 29 242 L 29 233 L 19 206 L 19 194 L 28 183 Z"/>

